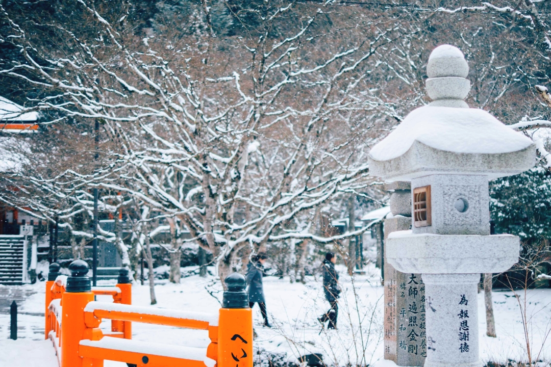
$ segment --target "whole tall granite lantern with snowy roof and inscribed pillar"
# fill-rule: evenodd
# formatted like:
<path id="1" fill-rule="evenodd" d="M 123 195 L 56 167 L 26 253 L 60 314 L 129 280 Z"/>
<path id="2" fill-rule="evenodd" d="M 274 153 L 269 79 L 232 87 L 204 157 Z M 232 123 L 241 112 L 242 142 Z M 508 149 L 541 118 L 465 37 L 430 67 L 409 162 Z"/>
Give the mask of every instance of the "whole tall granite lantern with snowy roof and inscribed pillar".
<path id="1" fill-rule="evenodd" d="M 424 366 L 480 367 L 480 273 L 510 269 L 520 247 L 514 235 L 490 235 L 488 181 L 533 167 L 536 148 L 463 101 L 471 85 L 458 48 L 435 48 L 426 69 L 433 101 L 371 149 L 369 168 L 386 182 L 411 183 L 411 229 L 388 235 L 386 259 L 398 271 L 422 273 Z M 408 321 L 405 327 L 418 322 L 414 316 Z"/>

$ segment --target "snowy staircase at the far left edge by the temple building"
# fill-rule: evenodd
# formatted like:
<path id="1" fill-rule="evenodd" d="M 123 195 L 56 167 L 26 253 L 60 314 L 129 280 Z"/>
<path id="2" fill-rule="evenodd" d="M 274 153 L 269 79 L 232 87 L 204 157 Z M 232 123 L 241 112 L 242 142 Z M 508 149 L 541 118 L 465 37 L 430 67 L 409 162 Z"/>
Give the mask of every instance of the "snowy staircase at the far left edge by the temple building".
<path id="1" fill-rule="evenodd" d="M 22 235 L 0 235 L 0 284 L 15 286 L 23 283 L 26 258 Z"/>

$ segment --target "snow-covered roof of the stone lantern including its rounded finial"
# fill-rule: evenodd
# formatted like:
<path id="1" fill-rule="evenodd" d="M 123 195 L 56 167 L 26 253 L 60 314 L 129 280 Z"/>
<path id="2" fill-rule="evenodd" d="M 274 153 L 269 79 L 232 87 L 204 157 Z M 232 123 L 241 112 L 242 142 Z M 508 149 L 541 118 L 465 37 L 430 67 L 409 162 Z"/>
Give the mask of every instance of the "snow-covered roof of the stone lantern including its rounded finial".
<path id="1" fill-rule="evenodd" d="M 429 105 L 414 109 L 369 153 L 373 176 L 387 182 L 429 174 L 476 174 L 497 178 L 536 163 L 532 140 L 490 113 L 468 108 L 471 83 L 463 53 L 441 45 L 430 54 L 426 90 Z"/>

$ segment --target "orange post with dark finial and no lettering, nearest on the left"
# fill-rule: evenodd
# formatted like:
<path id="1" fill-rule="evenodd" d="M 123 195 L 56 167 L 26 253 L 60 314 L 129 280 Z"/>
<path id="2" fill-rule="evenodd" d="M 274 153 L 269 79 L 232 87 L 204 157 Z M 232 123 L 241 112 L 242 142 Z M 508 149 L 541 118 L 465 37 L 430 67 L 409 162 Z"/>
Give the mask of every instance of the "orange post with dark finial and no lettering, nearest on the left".
<path id="1" fill-rule="evenodd" d="M 91 292 L 90 278 L 87 275 L 88 264 L 85 261 L 73 261 L 69 265 L 69 270 L 71 276 L 67 278 L 67 286 L 62 296 L 60 367 L 83 367 L 83 358 L 78 353 L 80 341 L 87 338 L 84 335 L 87 330 L 84 323 L 84 308 L 94 300 L 94 293 Z"/>

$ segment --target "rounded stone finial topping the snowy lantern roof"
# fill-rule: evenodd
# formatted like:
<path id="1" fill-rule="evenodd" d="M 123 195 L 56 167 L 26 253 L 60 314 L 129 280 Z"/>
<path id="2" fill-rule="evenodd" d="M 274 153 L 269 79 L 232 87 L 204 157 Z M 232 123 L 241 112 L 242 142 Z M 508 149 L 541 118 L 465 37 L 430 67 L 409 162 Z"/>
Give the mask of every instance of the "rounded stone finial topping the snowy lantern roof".
<path id="1" fill-rule="evenodd" d="M 430 53 L 426 65 L 426 91 L 433 102 L 430 106 L 468 108 L 464 98 L 471 90 L 471 82 L 465 79 L 469 65 L 463 52 L 455 46 L 441 45 Z"/>

